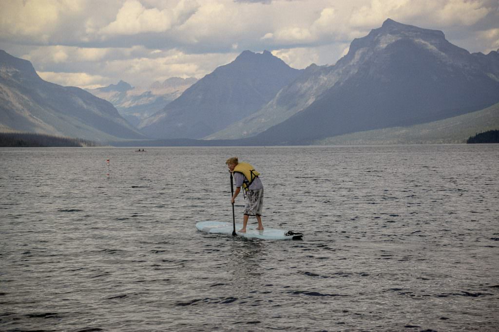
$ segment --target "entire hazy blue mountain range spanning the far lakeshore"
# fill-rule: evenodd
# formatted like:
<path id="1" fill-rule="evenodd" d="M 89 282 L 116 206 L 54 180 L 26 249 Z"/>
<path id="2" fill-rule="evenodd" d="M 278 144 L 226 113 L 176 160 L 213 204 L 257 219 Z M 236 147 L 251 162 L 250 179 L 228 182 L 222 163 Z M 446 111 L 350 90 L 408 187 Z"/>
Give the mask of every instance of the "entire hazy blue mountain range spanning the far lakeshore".
<path id="1" fill-rule="evenodd" d="M 403 132 L 400 128 L 421 129 L 417 126 L 423 124 L 437 125 L 415 130 L 465 132 L 458 122 L 471 123 L 482 114 L 476 111 L 499 102 L 497 51 L 470 53 L 450 43 L 442 31 L 391 19 L 354 39 L 334 65 L 297 70 L 268 51 L 244 51 L 192 85 L 194 81 L 177 80 L 176 99 L 157 104 L 159 111 L 149 108 L 132 112 L 134 119 L 128 117 L 135 124 L 141 119 L 139 129 L 126 123 L 109 102 L 78 88 L 45 82 L 28 61 L 5 52 L 0 52 L 0 75 L 0 131 L 92 139 L 98 134 L 116 140 L 140 139 L 142 134 L 187 139 L 183 142 L 189 145 L 303 145 L 374 136 L 392 140 Z M 148 108 L 160 95 L 152 89 L 132 91 L 121 81 L 92 93 L 121 111 Z M 155 101 L 145 102 L 149 97 Z M 486 114 L 494 119 L 497 112 Z M 442 125 L 439 121 L 444 119 L 453 119 L 454 125 Z M 483 124 L 475 122 L 473 130 Z"/>

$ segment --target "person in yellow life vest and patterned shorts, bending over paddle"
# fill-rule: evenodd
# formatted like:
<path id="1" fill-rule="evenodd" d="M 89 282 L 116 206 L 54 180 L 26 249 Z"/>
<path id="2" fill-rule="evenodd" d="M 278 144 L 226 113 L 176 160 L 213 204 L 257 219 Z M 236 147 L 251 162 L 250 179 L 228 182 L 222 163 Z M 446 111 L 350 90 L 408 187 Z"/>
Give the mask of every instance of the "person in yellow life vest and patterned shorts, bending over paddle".
<path id="1" fill-rule="evenodd" d="M 240 233 L 246 233 L 246 226 L 250 216 L 255 216 L 258 221 L 256 229 L 263 230 L 261 223 L 261 211 L 263 209 L 263 183 L 253 166 L 248 163 L 239 163 L 238 157 L 229 158 L 226 162 L 229 170 L 234 176 L 236 182 L 236 191 L 231 197 L 231 203 L 234 204 L 236 197 L 241 191 L 241 187 L 246 191 L 245 210 L 243 214 L 243 228 Z"/>

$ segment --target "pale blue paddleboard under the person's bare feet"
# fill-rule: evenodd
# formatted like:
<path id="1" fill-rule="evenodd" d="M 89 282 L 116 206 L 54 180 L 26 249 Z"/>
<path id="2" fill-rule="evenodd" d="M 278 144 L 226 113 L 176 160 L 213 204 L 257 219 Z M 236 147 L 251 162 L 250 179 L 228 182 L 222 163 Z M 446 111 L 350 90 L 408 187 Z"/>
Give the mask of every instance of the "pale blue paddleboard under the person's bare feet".
<path id="1" fill-rule="evenodd" d="M 248 238 L 264 239 L 264 240 L 300 240 L 303 234 L 294 233 L 283 229 L 264 227 L 263 230 L 255 229 L 256 226 L 248 225 L 246 233 L 240 233 L 238 230 L 243 228 L 243 224 L 236 224 L 236 234 Z M 223 221 L 200 221 L 196 224 L 196 228 L 206 233 L 232 234 L 234 226 L 232 222 Z"/>

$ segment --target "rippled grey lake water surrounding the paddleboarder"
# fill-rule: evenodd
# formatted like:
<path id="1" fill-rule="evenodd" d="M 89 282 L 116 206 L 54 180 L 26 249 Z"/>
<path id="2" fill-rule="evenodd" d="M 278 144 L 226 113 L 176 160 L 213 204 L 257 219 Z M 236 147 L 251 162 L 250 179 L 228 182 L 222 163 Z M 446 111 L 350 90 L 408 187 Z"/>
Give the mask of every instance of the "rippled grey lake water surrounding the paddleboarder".
<path id="1" fill-rule="evenodd" d="M 499 145 L 134 150 L 0 149 L 0 330 L 497 331 Z"/>

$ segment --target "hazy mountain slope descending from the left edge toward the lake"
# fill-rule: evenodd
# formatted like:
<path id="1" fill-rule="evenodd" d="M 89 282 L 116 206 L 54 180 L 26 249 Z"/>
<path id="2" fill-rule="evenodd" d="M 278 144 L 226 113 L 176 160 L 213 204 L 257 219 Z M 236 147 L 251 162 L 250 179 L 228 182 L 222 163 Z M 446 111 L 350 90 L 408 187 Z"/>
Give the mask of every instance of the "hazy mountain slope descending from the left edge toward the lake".
<path id="1" fill-rule="evenodd" d="M 101 141 L 143 138 L 109 102 L 43 81 L 29 61 L 2 50 L 0 130 Z"/>

